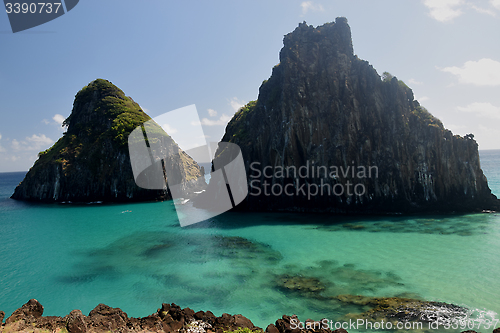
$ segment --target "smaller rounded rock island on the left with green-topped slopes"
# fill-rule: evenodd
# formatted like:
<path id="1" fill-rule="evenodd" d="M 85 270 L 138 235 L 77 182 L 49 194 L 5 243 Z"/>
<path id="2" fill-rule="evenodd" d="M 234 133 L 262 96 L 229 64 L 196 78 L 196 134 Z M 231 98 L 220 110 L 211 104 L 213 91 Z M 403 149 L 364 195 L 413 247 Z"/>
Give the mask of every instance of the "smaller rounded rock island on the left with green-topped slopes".
<path id="1" fill-rule="evenodd" d="M 38 160 L 12 198 L 29 201 L 142 201 L 168 199 L 167 189 L 146 190 L 134 181 L 128 136 L 151 118 L 112 83 L 97 79 L 75 97 L 67 132 Z M 178 151 L 164 135 L 165 149 Z M 189 157 L 178 159 L 186 179 L 200 177 Z"/>

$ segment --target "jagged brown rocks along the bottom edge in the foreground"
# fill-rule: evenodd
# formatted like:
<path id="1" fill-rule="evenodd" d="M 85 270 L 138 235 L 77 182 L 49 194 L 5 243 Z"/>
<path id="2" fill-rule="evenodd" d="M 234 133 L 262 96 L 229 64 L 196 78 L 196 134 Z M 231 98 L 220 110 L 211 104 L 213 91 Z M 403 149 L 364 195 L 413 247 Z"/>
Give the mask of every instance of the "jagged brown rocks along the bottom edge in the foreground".
<path id="1" fill-rule="evenodd" d="M 359 299 L 350 301 L 361 301 Z M 180 333 L 263 333 L 250 319 L 241 314 L 227 313 L 217 317 L 210 311 L 195 312 L 190 308 L 163 303 L 158 311 L 143 318 L 129 318 L 119 308 L 99 304 L 88 316 L 80 310 L 73 310 L 65 317 L 43 317 L 43 306 L 35 299 L 29 300 L 21 308 L 5 320 L 5 313 L 0 311 L 0 332 L 33 332 L 33 333 L 90 333 L 90 332 L 180 332 Z M 298 325 L 297 316 L 284 315 L 275 324 L 267 326 L 266 333 L 347 333 L 340 328 L 332 330 L 314 326 L 310 319 L 304 328 Z M 316 322 L 318 323 L 318 322 Z M 307 328 L 309 327 L 309 328 Z M 464 331 L 465 332 L 465 331 Z M 474 333 L 475 331 L 466 331 Z M 493 330 L 500 333 L 500 328 Z"/>

